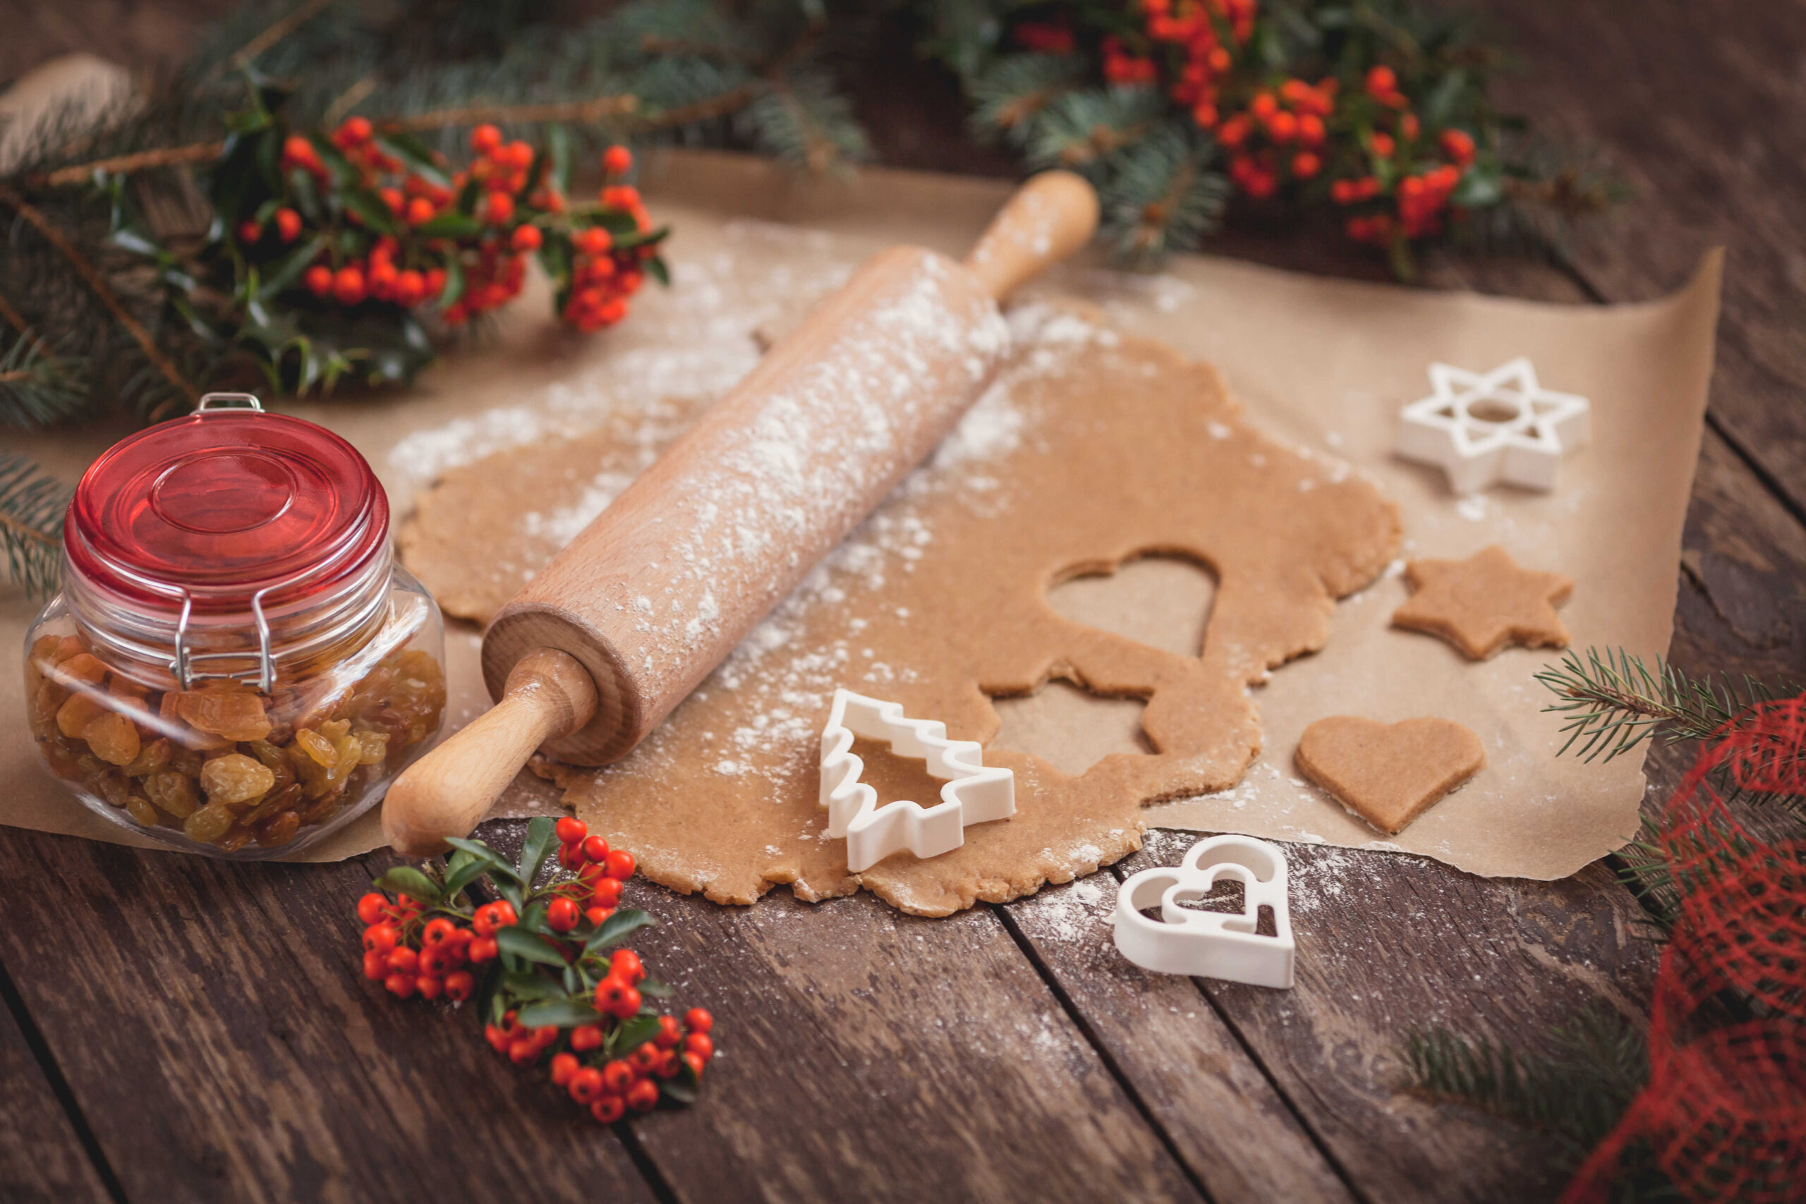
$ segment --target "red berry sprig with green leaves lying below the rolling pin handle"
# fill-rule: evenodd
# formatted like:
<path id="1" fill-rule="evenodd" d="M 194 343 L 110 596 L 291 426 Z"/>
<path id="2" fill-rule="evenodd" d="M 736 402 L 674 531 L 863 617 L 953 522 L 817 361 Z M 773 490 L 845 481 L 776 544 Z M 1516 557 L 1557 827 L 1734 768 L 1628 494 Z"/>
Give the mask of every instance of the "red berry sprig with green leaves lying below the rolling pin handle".
<path id="1" fill-rule="evenodd" d="M 538 839 L 544 841 L 540 848 L 549 848 L 556 836 L 558 865 L 573 872 L 571 877 L 517 894 L 524 908 L 520 913 L 509 899 L 466 910 L 455 894 L 468 874 L 459 883 L 446 883 L 414 870 L 392 870 L 394 875 L 412 875 L 406 881 L 415 892 L 437 892 L 439 899 L 423 904 L 406 894 L 390 901 L 381 892 L 370 892 L 358 901 L 358 919 L 365 922 L 365 977 L 383 982 L 401 998 L 442 995 L 466 1000 L 477 991 L 479 977 L 495 975 L 484 996 L 495 1000 L 489 1014 L 498 1016 L 484 1027 L 489 1045 L 518 1067 L 533 1065 L 551 1051 L 553 1083 L 605 1125 L 628 1112 L 650 1112 L 665 1094 L 686 1099 L 715 1056 L 713 1020 L 701 1007 L 692 1007 L 683 1022 L 648 1009 L 645 995 L 666 995 L 668 987 L 647 980 L 645 962 L 636 951 L 605 951 L 627 931 L 650 922 L 643 912 L 625 912 L 616 919 L 621 886 L 634 875 L 634 856 L 610 848 L 607 839 L 591 836 L 583 821 L 569 816 L 556 825 L 547 820 L 535 820 L 533 825 L 551 830 L 540 829 L 535 836 L 529 829 L 529 843 Z M 459 856 L 493 857 L 479 843 L 462 845 L 470 845 L 470 852 Z M 518 874 L 504 872 L 526 884 L 533 875 L 531 856 L 522 854 Z M 377 886 L 394 883 L 394 877 L 377 879 Z M 507 937 L 513 944 L 504 946 L 498 933 L 507 928 L 520 928 L 524 937 Z M 553 968 L 562 959 L 563 969 L 540 971 L 533 957 Z M 504 975 L 504 969 L 511 973 Z M 551 991 L 520 989 L 515 984 L 520 973 L 540 973 Z M 562 995 L 571 975 L 583 984 L 580 995 Z M 544 1000 L 553 998 L 556 1009 L 544 1011 Z M 526 1023 L 533 1007 L 542 1018 L 558 1018 L 560 1023 Z"/>

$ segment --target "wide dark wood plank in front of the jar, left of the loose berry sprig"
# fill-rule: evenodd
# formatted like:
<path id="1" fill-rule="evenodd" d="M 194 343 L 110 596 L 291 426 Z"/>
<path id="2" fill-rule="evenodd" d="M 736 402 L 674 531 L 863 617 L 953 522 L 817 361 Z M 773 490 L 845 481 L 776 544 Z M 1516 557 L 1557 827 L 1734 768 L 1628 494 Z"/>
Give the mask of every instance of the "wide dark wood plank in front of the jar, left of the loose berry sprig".
<path id="1" fill-rule="evenodd" d="M 361 861 L 228 865 L 7 829 L 0 877 L 31 883 L 0 957 L 128 1199 L 654 1199 L 544 1070 L 363 978 Z"/>

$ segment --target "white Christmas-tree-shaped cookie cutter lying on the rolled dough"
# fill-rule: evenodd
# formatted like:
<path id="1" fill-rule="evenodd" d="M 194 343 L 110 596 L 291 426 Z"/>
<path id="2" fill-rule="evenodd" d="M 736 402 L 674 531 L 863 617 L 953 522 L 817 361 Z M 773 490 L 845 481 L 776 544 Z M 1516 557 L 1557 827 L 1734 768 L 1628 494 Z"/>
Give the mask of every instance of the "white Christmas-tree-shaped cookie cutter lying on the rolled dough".
<path id="1" fill-rule="evenodd" d="M 852 736 L 889 740 L 898 756 L 921 756 L 928 774 L 946 778 L 941 801 L 878 805 L 878 791 L 860 782 L 865 762 L 852 755 Z M 847 870 L 860 874 L 908 848 L 937 857 L 966 843 L 968 823 L 1015 814 L 1015 774 L 984 764 L 977 740 L 948 740 L 946 724 L 910 718 L 903 704 L 834 691 L 834 709 L 822 729 L 822 807 L 829 838 L 847 838 Z"/>

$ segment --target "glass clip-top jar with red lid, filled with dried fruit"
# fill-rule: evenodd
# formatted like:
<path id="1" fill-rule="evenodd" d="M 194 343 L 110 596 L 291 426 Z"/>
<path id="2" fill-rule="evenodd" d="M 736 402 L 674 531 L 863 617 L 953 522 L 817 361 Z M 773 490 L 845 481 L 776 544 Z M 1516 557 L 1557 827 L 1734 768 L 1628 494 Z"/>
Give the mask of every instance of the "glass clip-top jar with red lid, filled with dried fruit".
<path id="1" fill-rule="evenodd" d="M 215 857 L 287 856 L 432 744 L 444 632 L 394 563 L 365 458 L 208 394 L 76 486 L 25 699 L 45 764 L 96 814 Z"/>

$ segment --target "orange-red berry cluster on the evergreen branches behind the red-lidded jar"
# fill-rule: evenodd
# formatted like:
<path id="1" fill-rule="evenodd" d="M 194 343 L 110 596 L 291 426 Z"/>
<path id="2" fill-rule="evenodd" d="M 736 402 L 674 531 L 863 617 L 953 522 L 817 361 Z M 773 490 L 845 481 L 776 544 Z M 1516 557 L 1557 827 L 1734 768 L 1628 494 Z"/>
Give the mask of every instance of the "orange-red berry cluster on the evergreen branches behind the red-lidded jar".
<path id="1" fill-rule="evenodd" d="M 643 262 L 657 255 L 638 190 L 619 182 L 632 170 L 632 153 L 609 148 L 601 166 L 610 182 L 596 204 L 576 206 L 553 184 L 547 157 L 531 143 L 507 143 L 497 126 L 480 125 L 470 146 L 470 168 L 446 184 L 435 168 L 417 159 L 410 166 L 367 117 L 347 117 L 323 141 L 291 134 L 280 159 L 287 193 L 258 211 L 269 213 L 267 222 L 240 222 L 238 242 L 262 251 L 269 227 L 282 244 L 307 233 L 293 197 L 300 173 L 320 197 L 341 199 L 321 215 L 318 260 L 300 276 L 321 300 L 347 309 L 441 301 L 441 318 L 457 327 L 517 298 L 526 256 L 560 244 L 571 264 L 571 278 L 558 280 L 560 316 L 585 332 L 621 321 L 627 298 L 645 283 Z M 370 204 L 356 204 L 359 197 Z M 372 215 L 383 211 L 386 220 Z"/>

